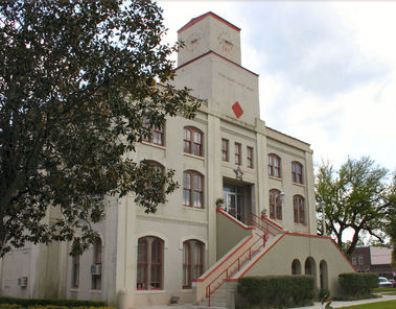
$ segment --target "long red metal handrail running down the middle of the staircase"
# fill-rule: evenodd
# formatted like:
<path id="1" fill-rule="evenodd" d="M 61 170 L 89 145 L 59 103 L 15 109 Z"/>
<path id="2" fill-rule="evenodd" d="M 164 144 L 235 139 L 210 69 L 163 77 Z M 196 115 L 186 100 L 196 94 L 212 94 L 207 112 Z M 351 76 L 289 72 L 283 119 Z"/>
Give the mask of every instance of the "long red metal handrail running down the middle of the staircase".
<path id="1" fill-rule="evenodd" d="M 260 236 L 260 235 L 259 235 L 259 236 Z M 267 235 L 265 235 L 265 234 L 263 235 L 263 239 L 258 238 L 252 245 L 249 246 L 249 248 L 247 248 L 245 251 L 243 251 L 243 253 L 240 254 L 240 255 L 238 256 L 238 258 L 237 258 L 234 262 L 232 262 L 225 270 L 223 270 L 215 279 L 213 279 L 213 280 L 206 286 L 206 298 L 208 299 L 208 307 L 211 306 L 211 297 L 210 297 L 210 296 L 211 296 L 211 295 L 212 295 L 212 294 L 224 283 L 224 280 L 230 278 L 230 277 L 231 277 L 232 275 L 234 275 L 236 272 L 240 271 L 241 267 L 243 267 L 247 261 L 250 261 L 250 260 L 252 259 L 253 255 L 254 255 L 258 250 L 260 250 L 260 248 L 262 248 L 262 247 L 265 246 L 266 240 L 267 240 Z M 261 242 L 261 241 L 263 241 L 263 244 L 260 245 L 255 251 L 252 250 L 253 247 L 254 247 L 257 243 L 259 243 L 259 242 Z M 242 257 L 243 257 L 246 253 L 249 253 L 247 259 L 242 260 Z M 232 267 L 234 267 L 235 264 L 237 264 L 237 267 L 236 267 L 235 269 L 232 270 Z M 217 280 L 218 280 L 221 276 L 223 276 L 224 274 L 225 274 L 224 280 L 222 280 L 217 286 L 213 286 L 214 283 L 216 283 Z"/>

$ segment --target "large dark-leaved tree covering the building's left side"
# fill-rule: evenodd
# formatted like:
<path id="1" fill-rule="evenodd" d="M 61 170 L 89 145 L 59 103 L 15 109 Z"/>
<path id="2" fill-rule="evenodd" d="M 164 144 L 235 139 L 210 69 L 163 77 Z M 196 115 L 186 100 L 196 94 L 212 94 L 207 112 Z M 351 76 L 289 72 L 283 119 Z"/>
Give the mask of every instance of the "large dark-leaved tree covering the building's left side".
<path id="1" fill-rule="evenodd" d="M 154 212 L 176 188 L 173 171 L 128 154 L 198 107 L 169 84 L 179 46 L 161 43 L 162 20 L 151 0 L 1 2 L 0 256 L 26 241 L 77 253 L 105 195 L 132 192 Z"/>

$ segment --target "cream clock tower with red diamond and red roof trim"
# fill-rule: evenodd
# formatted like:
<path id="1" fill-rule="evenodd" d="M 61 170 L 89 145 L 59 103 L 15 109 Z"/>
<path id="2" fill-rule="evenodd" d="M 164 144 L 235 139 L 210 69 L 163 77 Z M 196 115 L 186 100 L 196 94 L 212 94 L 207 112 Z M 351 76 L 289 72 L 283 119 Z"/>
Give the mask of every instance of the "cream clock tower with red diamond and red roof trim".
<path id="1" fill-rule="evenodd" d="M 210 113 L 250 125 L 259 118 L 258 75 L 241 65 L 241 29 L 208 12 L 178 31 L 175 84 L 207 101 Z"/>

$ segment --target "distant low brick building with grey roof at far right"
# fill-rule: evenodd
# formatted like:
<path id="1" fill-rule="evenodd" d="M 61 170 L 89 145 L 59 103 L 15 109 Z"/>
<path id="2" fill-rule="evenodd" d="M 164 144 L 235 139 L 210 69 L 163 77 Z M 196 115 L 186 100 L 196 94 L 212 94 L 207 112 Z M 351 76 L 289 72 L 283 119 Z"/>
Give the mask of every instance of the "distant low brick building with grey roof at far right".
<path id="1" fill-rule="evenodd" d="M 392 249 L 385 247 L 358 247 L 351 255 L 351 262 L 359 272 L 375 272 L 393 278 L 396 267 L 392 267 Z"/>

